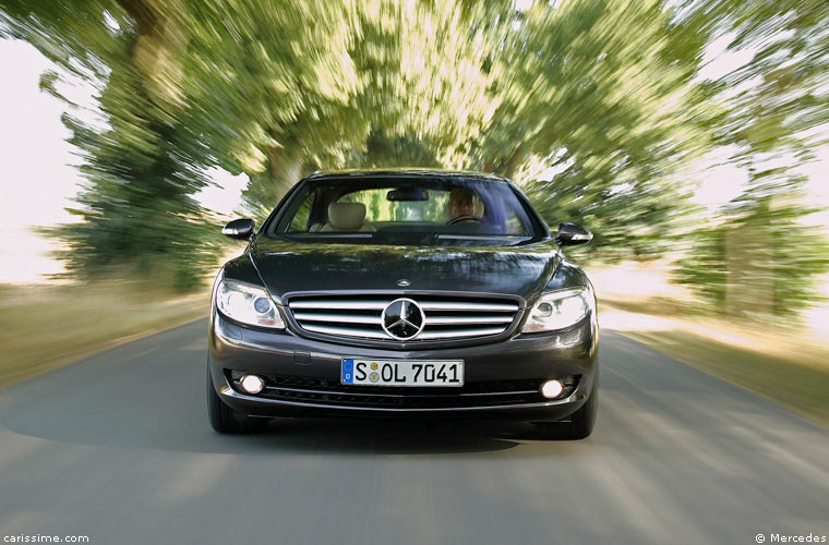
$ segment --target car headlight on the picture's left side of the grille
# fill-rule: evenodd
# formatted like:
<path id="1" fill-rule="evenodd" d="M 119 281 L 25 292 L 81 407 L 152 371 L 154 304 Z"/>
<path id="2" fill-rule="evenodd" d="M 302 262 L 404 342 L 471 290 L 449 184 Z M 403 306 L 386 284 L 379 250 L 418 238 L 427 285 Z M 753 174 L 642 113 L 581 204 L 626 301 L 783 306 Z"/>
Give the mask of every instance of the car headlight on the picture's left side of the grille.
<path id="1" fill-rule="evenodd" d="M 237 280 L 221 280 L 216 290 L 216 307 L 242 324 L 285 329 L 274 301 L 264 288 Z"/>

